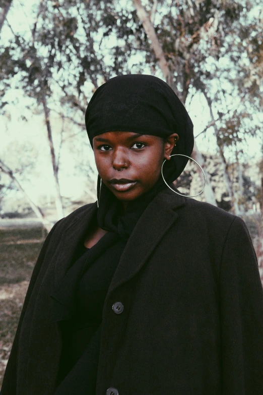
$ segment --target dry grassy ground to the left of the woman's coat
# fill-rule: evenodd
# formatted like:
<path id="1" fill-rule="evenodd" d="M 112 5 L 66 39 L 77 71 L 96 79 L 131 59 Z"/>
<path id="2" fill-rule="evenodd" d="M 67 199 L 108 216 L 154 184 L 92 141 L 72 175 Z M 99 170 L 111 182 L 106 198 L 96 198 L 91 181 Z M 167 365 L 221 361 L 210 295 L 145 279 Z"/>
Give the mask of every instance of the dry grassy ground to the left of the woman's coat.
<path id="1" fill-rule="evenodd" d="M 42 244 L 41 228 L 0 230 L 0 387 Z"/>

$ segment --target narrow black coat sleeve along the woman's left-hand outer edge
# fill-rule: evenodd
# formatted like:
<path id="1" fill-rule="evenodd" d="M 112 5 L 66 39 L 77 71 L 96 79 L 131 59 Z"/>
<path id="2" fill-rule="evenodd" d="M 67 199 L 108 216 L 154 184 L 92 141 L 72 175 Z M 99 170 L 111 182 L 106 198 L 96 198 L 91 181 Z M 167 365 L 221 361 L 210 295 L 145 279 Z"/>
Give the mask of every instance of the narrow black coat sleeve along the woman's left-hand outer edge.
<path id="1" fill-rule="evenodd" d="M 40 250 L 39 256 L 37 258 L 36 264 L 34 266 L 30 281 L 29 281 L 29 286 L 27 289 L 27 293 L 26 293 L 26 297 L 24 300 L 24 304 L 22 307 L 22 311 L 20 314 L 20 318 L 19 318 L 19 322 L 18 322 L 18 326 L 17 326 L 17 330 L 16 330 L 16 334 L 15 334 L 15 338 L 14 338 L 14 342 L 12 345 L 12 349 L 11 349 L 11 353 L 9 356 L 9 360 L 7 363 L 7 367 L 5 370 L 5 374 L 4 374 L 4 378 L 3 378 L 3 383 L 2 383 L 2 388 L 1 388 L 1 395 L 15 395 L 16 394 L 16 365 L 17 365 L 17 351 L 18 351 L 18 343 L 19 343 L 19 335 L 20 335 L 20 329 L 21 329 L 21 325 L 23 322 L 23 318 L 27 309 L 27 305 L 28 302 L 30 300 L 30 296 L 31 293 L 33 291 L 34 285 L 36 283 L 36 279 L 38 277 L 38 273 L 40 271 L 44 256 L 46 254 L 46 250 L 49 244 L 49 241 L 52 237 L 52 234 L 54 232 L 54 230 L 56 229 L 57 224 L 62 220 L 63 218 L 59 219 L 59 221 L 57 221 L 51 231 L 49 232 L 49 234 L 47 235 L 44 244 Z"/>

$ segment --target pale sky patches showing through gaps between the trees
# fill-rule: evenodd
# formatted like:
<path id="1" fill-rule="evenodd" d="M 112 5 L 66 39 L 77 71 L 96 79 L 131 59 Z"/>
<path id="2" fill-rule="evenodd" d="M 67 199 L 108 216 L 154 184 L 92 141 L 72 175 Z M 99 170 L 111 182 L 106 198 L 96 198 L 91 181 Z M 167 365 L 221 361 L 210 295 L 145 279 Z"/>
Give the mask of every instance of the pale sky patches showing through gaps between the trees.
<path id="1" fill-rule="evenodd" d="M 30 19 L 30 10 L 34 4 L 38 4 L 38 2 L 36 2 L 36 0 L 27 0 L 27 2 L 23 4 L 22 2 L 13 0 L 13 7 L 8 14 L 8 22 L 15 31 L 29 31 L 29 25 L 32 21 L 32 19 Z M 11 31 L 9 27 L 4 26 L 1 33 L 2 40 L 4 42 L 8 40 L 10 34 Z M 136 59 L 131 59 L 130 61 L 131 63 L 136 63 Z M 146 71 L 145 74 L 150 73 Z M 156 76 L 162 78 L 161 72 Z M 10 118 L 5 116 L 0 118 L 0 137 L 2 142 L 0 157 L 5 157 L 6 147 L 14 142 L 22 144 L 28 141 L 36 146 L 39 155 L 35 163 L 35 175 L 32 176 L 30 180 L 24 181 L 23 186 L 32 199 L 37 201 L 42 194 L 52 193 L 53 188 L 50 151 L 44 115 L 32 114 L 27 122 L 21 120 L 21 116 L 25 113 L 27 99 L 25 99 L 22 92 L 17 89 L 10 91 L 9 94 L 13 96 L 14 94 L 16 95 L 17 104 L 15 107 L 8 106 Z M 30 105 L 30 100 L 28 104 Z M 192 98 L 191 103 L 186 101 L 186 108 L 194 125 L 194 136 L 197 136 L 211 122 L 206 100 L 202 94 L 198 93 Z M 60 122 L 55 116 L 51 116 L 51 124 L 52 129 L 55 130 L 54 142 L 57 145 Z M 85 136 L 87 135 L 85 129 L 83 133 Z M 203 135 L 197 137 L 195 142 L 201 152 L 216 154 L 216 138 L 213 127 L 209 128 Z M 262 156 L 260 152 L 261 145 L 262 141 L 260 142 L 254 138 L 247 139 L 247 144 L 243 149 L 246 156 L 250 158 L 249 160 L 256 161 Z M 23 152 L 17 152 L 17 155 L 23 155 Z M 226 157 L 230 157 L 228 155 L 226 150 Z M 91 150 L 87 150 L 87 161 L 90 161 L 93 168 L 95 168 L 95 161 Z M 70 149 L 64 150 L 60 166 L 63 169 L 63 172 L 59 175 L 61 194 L 71 197 L 72 199 L 77 199 L 78 196 L 83 193 L 83 181 L 85 181 L 85 177 L 83 175 L 76 176 L 73 171 L 74 157 Z"/>

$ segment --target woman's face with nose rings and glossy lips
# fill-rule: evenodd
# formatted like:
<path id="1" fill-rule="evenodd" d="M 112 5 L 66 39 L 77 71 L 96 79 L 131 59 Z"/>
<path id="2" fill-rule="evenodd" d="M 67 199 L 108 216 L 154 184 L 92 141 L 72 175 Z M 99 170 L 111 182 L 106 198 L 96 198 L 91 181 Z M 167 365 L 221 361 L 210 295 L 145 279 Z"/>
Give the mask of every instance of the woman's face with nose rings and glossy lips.
<path id="1" fill-rule="evenodd" d="M 101 180 L 122 202 L 138 198 L 156 184 L 163 161 L 170 159 L 178 138 L 176 133 L 167 142 L 161 137 L 134 132 L 95 136 L 93 150 Z"/>

